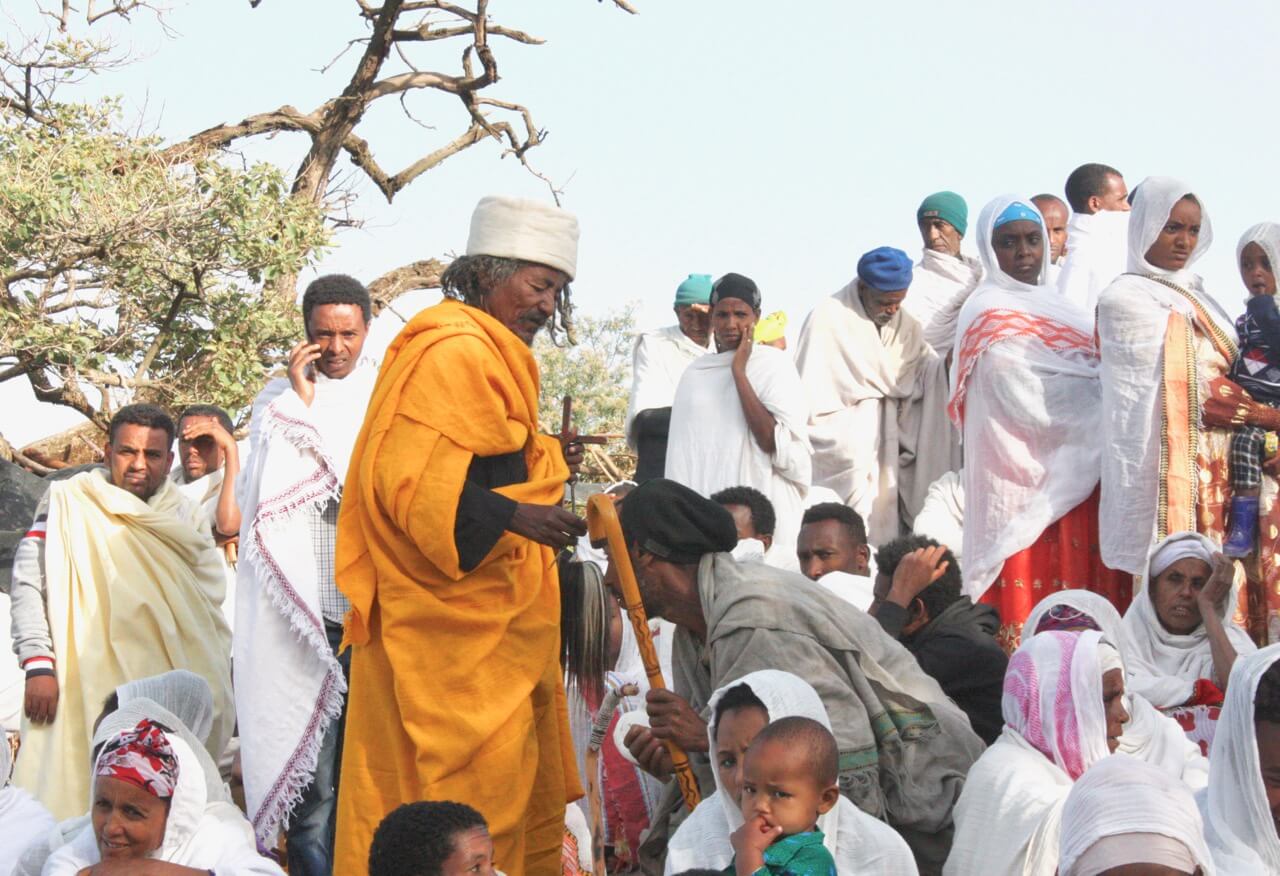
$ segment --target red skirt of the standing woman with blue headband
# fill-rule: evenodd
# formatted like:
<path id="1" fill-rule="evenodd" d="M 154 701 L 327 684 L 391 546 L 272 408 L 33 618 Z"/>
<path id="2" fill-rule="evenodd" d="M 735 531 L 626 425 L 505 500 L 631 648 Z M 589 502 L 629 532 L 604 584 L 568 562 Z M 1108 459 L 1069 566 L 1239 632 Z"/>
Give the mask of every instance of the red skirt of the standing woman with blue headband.
<path id="1" fill-rule="evenodd" d="M 1023 622 L 1037 602 L 1059 590 L 1092 590 L 1107 598 L 1121 615 L 1133 599 L 1133 575 L 1107 569 L 1098 551 L 1101 489 L 1048 525 L 1036 543 L 1005 560 L 1000 575 L 983 594 L 983 604 L 1000 612 L 997 639 L 1012 653 L 1023 638 Z"/>

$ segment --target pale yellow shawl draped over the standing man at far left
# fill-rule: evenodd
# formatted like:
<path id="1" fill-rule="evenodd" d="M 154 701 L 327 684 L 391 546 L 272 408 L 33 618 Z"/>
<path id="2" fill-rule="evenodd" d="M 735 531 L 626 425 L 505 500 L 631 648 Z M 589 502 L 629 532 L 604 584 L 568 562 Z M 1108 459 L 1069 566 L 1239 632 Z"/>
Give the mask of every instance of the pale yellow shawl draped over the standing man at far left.
<path id="1" fill-rule="evenodd" d="M 58 820 L 84 813 L 90 739 L 125 681 L 184 669 L 214 692 L 209 752 L 234 725 L 223 561 L 204 512 L 165 479 L 147 502 L 93 469 L 49 487 L 45 598 L 58 657 L 58 717 L 22 725 L 14 784 Z"/>

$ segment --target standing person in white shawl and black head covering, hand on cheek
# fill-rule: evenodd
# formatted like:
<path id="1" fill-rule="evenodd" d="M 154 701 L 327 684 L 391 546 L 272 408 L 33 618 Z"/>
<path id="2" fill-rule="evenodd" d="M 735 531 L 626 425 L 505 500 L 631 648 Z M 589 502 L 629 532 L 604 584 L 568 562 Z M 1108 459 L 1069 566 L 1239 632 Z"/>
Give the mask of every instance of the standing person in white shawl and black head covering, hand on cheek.
<path id="1" fill-rule="evenodd" d="M 716 355 L 694 360 L 671 409 L 666 476 L 703 496 L 754 487 L 773 503 L 773 551 L 794 557 L 812 479 L 805 392 L 791 357 L 755 343 L 760 291 L 741 274 L 712 287 Z"/>

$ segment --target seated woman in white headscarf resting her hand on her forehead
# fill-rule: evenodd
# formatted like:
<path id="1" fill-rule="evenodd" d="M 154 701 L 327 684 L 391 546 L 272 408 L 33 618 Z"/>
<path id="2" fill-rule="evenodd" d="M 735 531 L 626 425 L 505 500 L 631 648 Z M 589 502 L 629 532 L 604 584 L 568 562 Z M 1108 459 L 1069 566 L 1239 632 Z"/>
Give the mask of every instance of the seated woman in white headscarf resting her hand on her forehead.
<path id="1" fill-rule="evenodd" d="M 1257 647 L 1230 617 L 1235 566 L 1197 533 L 1174 533 L 1151 555 L 1146 593 L 1124 616 L 1129 684 L 1174 717 L 1208 754 L 1236 654 Z"/>

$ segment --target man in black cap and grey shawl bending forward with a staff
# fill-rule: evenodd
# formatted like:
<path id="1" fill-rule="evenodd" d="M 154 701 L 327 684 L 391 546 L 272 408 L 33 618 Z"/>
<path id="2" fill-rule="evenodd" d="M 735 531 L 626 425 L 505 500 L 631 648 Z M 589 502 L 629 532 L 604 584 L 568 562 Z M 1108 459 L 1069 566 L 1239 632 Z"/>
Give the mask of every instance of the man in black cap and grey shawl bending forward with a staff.
<path id="1" fill-rule="evenodd" d="M 627 735 L 636 759 L 669 775 L 662 740 L 673 739 L 705 772 L 712 692 L 756 670 L 794 672 L 831 716 L 841 791 L 896 827 L 922 872 L 940 872 L 951 808 L 983 744 L 937 681 L 840 597 L 803 575 L 736 562 L 728 555 L 737 542 L 733 517 L 687 487 L 641 484 L 622 502 L 621 517 L 649 615 L 676 625 L 672 690 L 650 690 L 650 729 Z M 660 854 L 662 816 L 678 807 L 673 783 L 666 802 L 643 857 Z"/>

